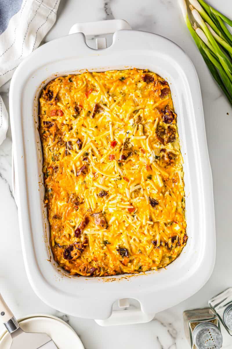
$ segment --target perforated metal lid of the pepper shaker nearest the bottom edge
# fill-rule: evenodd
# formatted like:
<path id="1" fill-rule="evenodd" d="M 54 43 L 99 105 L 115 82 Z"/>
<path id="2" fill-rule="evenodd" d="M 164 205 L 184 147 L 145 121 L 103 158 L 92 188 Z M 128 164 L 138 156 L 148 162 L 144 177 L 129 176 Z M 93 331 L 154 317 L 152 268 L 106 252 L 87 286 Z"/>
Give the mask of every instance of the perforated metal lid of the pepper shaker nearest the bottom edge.
<path id="1" fill-rule="evenodd" d="M 193 330 L 193 342 L 198 349 L 220 349 L 222 334 L 212 322 L 201 322 Z"/>

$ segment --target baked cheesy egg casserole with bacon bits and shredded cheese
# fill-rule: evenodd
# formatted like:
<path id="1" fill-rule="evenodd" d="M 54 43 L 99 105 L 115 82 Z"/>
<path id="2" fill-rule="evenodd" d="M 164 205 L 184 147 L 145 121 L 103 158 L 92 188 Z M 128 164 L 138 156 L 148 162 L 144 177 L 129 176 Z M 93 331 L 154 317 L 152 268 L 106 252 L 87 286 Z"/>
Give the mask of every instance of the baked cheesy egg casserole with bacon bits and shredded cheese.
<path id="1" fill-rule="evenodd" d="M 57 77 L 39 99 L 54 259 L 71 275 L 167 266 L 187 241 L 167 81 L 141 69 Z"/>

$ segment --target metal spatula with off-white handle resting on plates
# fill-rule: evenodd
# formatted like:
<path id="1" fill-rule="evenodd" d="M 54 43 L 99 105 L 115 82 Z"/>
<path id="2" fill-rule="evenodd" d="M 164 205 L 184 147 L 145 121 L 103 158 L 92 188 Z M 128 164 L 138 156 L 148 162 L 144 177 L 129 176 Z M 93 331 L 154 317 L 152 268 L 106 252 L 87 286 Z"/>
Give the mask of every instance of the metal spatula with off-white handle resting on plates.
<path id="1" fill-rule="evenodd" d="M 24 332 L 0 294 L 0 319 L 10 333 L 10 349 L 57 349 L 53 340 L 46 333 Z"/>

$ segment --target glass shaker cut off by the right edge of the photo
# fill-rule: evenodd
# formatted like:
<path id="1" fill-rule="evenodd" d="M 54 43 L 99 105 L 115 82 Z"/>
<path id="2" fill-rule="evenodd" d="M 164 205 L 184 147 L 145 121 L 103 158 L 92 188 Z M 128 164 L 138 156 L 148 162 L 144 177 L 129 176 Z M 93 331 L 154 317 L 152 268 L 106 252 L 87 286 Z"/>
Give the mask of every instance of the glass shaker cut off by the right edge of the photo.
<path id="1" fill-rule="evenodd" d="M 232 288 L 230 287 L 211 298 L 209 306 L 221 320 L 226 331 L 232 336 Z"/>

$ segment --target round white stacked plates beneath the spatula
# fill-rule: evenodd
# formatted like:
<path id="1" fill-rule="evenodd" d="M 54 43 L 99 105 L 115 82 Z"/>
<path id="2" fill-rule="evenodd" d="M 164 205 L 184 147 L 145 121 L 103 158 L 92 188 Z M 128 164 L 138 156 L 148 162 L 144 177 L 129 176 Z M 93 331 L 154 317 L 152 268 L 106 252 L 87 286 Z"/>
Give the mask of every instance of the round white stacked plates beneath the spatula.
<path id="1" fill-rule="evenodd" d="M 84 349 L 75 331 L 66 322 L 56 317 L 34 316 L 18 321 L 25 332 L 47 333 L 53 339 L 58 349 Z M 11 337 L 8 332 L 1 336 L 0 349 L 10 348 Z M 21 348 L 20 348 L 21 349 Z"/>

